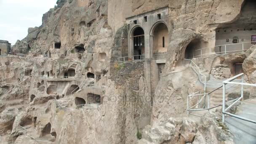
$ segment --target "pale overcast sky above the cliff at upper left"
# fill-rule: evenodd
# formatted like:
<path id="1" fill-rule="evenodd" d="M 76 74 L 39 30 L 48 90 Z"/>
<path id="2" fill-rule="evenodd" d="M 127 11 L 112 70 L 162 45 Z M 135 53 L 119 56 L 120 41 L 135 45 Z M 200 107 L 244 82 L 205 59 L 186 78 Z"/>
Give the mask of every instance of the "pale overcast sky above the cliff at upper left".
<path id="1" fill-rule="evenodd" d="M 39 27 L 42 16 L 57 0 L 0 0 L 0 40 L 14 45 L 27 36 L 29 27 Z"/>

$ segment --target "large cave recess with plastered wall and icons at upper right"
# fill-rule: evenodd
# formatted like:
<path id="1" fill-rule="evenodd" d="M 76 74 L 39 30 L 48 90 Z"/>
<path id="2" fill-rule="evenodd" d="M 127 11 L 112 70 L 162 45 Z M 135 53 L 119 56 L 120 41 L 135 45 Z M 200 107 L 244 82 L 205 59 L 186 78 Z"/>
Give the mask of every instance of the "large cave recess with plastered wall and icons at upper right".
<path id="1" fill-rule="evenodd" d="M 219 24 L 216 29 L 215 42 L 215 45 L 219 46 L 215 47 L 215 52 L 223 54 L 226 49 L 226 53 L 240 53 L 254 45 L 253 41 L 256 41 L 255 13 L 256 1 L 245 0 L 240 14 L 234 21 Z"/>

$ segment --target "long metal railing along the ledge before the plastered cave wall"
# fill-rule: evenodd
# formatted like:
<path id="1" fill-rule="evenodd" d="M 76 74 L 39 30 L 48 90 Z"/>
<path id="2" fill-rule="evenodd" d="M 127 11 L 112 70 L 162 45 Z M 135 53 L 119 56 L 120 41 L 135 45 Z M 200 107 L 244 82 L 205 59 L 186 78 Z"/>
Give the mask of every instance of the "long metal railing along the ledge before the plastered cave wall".
<path id="1" fill-rule="evenodd" d="M 251 47 L 250 43 L 256 43 L 256 41 L 245 42 L 245 43 L 232 43 L 227 45 L 216 45 L 214 47 L 200 48 L 193 51 L 193 58 L 203 57 L 203 56 L 208 56 L 213 54 L 228 54 L 228 53 L 235 53 L 235 52 L 244 52 Z M 234 46 L 237 46 L 235 50 L 234 50 Z M 219 52 L 215 52 L 215 48 L 219 48 Z"/>

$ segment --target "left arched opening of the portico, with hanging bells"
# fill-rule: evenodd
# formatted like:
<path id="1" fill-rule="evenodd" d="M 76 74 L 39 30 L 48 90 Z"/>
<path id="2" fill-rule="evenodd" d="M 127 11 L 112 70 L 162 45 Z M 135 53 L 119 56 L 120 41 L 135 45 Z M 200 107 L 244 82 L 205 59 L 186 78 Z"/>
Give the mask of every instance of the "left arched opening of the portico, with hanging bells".
<path id="1" fill-rule="evenodd" d="M 133 56 L 134 59 L 141 59 L 141 55 L 145 54 L 144 30 L 137 27 L 133 31 Z"/>

